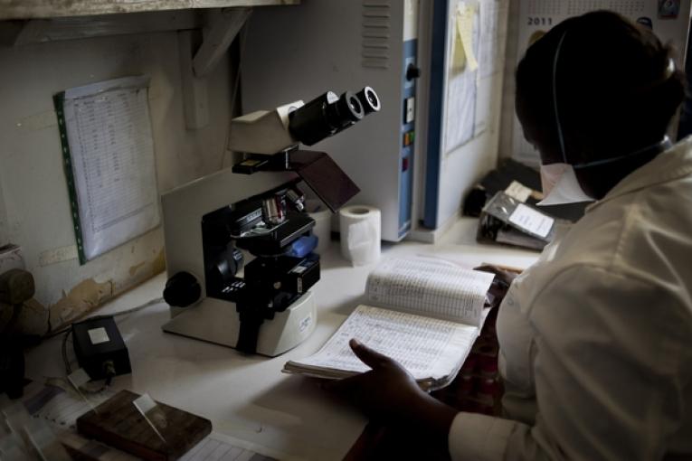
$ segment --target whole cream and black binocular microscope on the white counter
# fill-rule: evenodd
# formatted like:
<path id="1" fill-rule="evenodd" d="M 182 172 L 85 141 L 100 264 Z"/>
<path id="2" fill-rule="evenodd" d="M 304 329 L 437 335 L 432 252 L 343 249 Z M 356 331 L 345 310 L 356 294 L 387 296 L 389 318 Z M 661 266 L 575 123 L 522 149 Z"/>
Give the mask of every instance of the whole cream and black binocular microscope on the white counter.
<path id="1" fill-rule="evenodd" d="M 308 338 L 317 324 L 310 287 L 320 272 L 300 187 L 332 212 L 359 189 L 329 155 L 299 145 L 379 108 L 365 87 L 232 119 L 229 148 L 242 161 L 162 195 L 171 313 L 164 331 L 270 357 Z"/>

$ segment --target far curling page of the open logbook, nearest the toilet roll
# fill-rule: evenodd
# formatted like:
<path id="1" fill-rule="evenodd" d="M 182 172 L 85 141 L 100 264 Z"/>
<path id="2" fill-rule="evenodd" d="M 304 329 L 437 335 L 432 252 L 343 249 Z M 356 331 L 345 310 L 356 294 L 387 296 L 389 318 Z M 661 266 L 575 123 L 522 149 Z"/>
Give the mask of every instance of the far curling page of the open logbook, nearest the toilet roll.
<path id="1" fill-rule="evenodd" d="M 443 259 L 392 258 L 374 268 L 365 293 L 374 306 L 480 326 L 493 278 Z"/>

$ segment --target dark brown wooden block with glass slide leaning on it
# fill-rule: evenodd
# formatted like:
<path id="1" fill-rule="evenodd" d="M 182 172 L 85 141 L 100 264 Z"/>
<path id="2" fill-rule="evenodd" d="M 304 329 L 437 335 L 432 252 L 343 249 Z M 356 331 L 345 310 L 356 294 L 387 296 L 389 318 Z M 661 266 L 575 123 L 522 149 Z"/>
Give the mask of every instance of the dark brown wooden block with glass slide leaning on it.
<path id="1" fill-rule="evenodd" d="M 167 443 L 164 443 L 133 405 L 133 400 L 138 397 L 129 390 L 120 390 L 95 411 L 77 419 L 77 430 L 111 447 L 156 461 L 185 455 L 212 432 L 209 419 L 156 402 L 167 421 L 166 430 L 161 431 L 166 438 Z"/>

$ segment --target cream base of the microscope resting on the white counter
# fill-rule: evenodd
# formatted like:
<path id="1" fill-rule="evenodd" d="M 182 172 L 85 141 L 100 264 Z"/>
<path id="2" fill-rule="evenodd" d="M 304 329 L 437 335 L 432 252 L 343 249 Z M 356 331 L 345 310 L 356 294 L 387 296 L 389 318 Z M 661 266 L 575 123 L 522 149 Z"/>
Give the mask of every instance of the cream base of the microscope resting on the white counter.
<path id="1" fill-rule="evenodd" d="M 240 321 L 231 302 L 205 297 L 194 306 L 171 307 L 171 317 L 162 326 L 165 332 L 233 348 L 238 342 Z M 308 291 L 272 320 L 264 321 L 257 340 L 257 353 L 269 357 L 285 353 L 307 339 L 317 321 L 315 298 Z"/>

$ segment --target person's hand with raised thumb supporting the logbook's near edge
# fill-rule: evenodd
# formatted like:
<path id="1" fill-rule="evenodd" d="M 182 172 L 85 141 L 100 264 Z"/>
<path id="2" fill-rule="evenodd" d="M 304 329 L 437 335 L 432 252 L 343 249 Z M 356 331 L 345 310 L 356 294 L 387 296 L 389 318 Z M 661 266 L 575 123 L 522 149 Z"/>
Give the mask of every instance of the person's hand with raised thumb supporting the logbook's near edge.
<path id="1" fill-rule="evenodd" d="M 327 388 L 353 402 L 370 419 L 389 426 L 420 428 L 447 447 L 457 411 L 423 391 L 399 362 L 355 339 L 349 345 L 372 370 L 330 383 Z"/>

